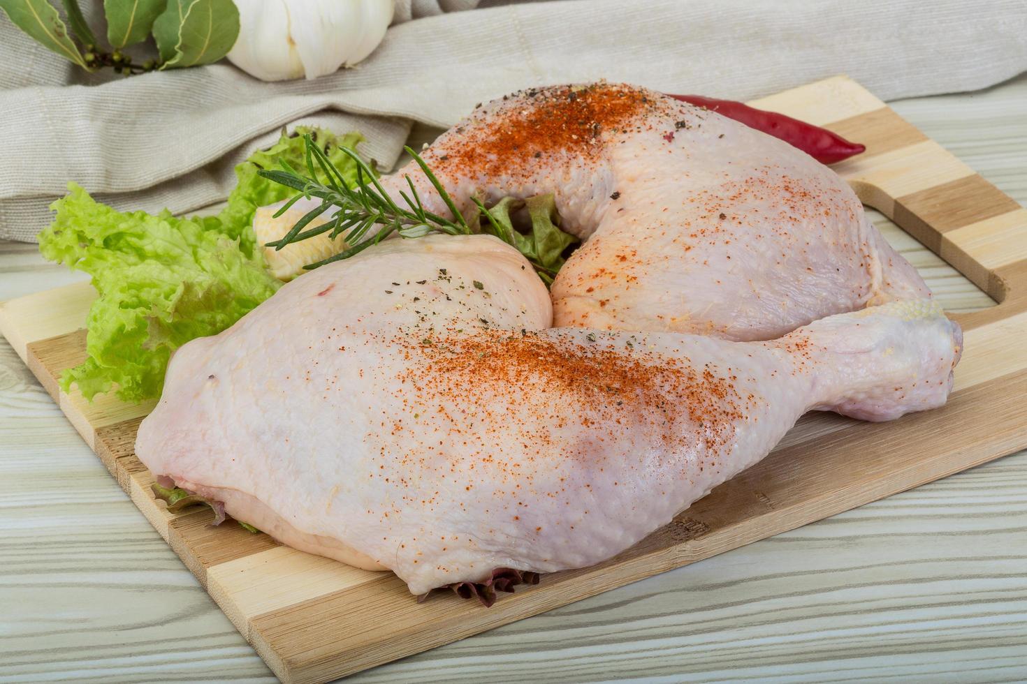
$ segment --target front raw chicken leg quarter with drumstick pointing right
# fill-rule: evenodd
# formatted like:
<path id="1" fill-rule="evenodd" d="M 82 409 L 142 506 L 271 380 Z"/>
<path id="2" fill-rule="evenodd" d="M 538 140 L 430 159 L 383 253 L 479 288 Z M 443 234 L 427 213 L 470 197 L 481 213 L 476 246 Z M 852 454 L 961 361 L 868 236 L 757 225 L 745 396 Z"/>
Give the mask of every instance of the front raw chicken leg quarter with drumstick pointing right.
<path id="1" fill-rule="evenodd" d="M 929 300 L 772 341 L 550 322 L 498 240 L 388 241 L 182 347 L 137 454 L 286 544 L 423 594 L 605 560 L 807 410 L 940 406 L 960 348 Z"/>

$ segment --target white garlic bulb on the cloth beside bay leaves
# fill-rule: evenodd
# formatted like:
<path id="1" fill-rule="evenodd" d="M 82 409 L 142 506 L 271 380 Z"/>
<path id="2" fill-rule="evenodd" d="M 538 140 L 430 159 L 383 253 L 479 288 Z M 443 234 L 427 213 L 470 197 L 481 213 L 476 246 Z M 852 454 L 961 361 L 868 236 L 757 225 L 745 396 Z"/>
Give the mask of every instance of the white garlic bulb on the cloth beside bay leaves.
<path id="1" fill-rule="evenodd" d="M 393 0 L 235 0 L 239 37 L 228 53 L 262 81 L 317 78 L 371 54 Z"/>

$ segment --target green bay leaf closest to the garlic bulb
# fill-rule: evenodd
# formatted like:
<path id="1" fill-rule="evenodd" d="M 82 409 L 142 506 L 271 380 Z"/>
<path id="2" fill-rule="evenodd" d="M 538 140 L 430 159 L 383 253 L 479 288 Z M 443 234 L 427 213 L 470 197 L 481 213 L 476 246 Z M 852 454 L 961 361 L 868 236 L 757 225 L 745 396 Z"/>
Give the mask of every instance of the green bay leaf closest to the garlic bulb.
<path id="1" fill-rule="evenodd" d="M 153 23 L 161 69 L 207 65 L 222 58 L 239 35 L 232 0 L 167 0 Z"/>

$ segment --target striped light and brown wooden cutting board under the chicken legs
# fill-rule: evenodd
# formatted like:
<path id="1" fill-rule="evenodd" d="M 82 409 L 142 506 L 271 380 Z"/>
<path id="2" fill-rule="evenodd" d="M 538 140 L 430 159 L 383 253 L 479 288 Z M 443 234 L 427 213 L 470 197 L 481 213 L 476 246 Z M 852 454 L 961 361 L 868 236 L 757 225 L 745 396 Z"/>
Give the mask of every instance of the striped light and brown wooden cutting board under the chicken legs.
<path id="1" fill-rule="evenodd" d="M 944 408 L 887 424 L 810 414 L 757 467 L 601 565 L 545 575 L 489 609 L 438 593 L 416 603 L 391 573 L 280 547 L 213 514 L 168 514 L 136 458 L 152 407 L 60 392 L 85 358 L 94 292 L 72 285 L 0 304 L 0 332 L 146 518 L 283 681 L 319 682 L 416 653 L 799 527 L 1027 447 L 1027 210 L 853 81 L 832 78 L 753 103 L 867 145 L 835 166 L 999 304 L 965 331 Z"/>

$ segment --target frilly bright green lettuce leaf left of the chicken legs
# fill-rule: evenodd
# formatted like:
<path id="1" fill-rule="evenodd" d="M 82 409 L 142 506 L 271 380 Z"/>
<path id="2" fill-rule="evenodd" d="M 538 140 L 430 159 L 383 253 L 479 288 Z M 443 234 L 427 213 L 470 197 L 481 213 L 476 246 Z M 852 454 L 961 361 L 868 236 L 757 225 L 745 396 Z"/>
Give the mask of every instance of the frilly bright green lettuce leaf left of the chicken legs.
<path id="1" fill-rule="evenodd" d="M 336 166 L 355 178 L 355 163 L 338 146 L 355 146 L 359 134 L 312 132 Z M 278 159 L 302 165 L 303 138 L 282 133 L 239 164 L 238 185 L 217 216 L 123 213 L 69 185 L 68 196 L 51 207 L 56 217 L 40 233 L 39 249 L 91 275 L 99 296 L 89 310 L 88 358 L 65 370 L 65 391 L 77 385 L 90 401 L 111 391 L 128 402 L 158 397 L 176 349 L 224 330 L 274 294 L 281 283 L 265 268 L 252 223 L 258 206 L 292 194 L 257 175 Z"/>

